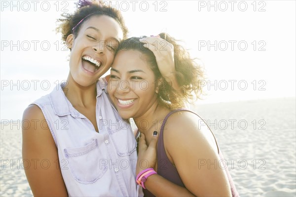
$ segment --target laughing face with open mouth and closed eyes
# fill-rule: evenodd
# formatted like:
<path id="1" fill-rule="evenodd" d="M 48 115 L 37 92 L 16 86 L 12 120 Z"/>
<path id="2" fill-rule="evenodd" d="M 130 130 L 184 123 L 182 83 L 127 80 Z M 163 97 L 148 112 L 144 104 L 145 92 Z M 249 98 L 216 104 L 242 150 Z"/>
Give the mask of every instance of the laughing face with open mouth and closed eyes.
<path id="1" fill-rule="evenodd" d="M 92 16 L 84 21 L 77 37 L 67 38 L 74 81 L 81 86 L 94 84 L 109 70 L 122 38 L 119 24 L 110 16 Z"/>

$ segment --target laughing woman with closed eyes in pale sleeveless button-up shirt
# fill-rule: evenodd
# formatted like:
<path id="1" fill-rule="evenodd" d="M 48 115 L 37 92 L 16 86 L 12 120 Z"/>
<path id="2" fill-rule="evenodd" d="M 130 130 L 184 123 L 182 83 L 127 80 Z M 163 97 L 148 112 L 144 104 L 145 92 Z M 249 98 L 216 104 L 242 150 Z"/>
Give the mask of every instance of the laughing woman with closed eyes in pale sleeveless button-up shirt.
<path id="1" fill-rule="evenodd" d="M 118 10 L 80 0 L 58 30 L 71 50 L 67 82 L 23 114 L 22 155 L 34 196 L 143 194 L 134 182 L 137 142 L 112 106 L 106 79 L 127 28 Z M 174 82 L 174 66 L 167 79 Z"/>

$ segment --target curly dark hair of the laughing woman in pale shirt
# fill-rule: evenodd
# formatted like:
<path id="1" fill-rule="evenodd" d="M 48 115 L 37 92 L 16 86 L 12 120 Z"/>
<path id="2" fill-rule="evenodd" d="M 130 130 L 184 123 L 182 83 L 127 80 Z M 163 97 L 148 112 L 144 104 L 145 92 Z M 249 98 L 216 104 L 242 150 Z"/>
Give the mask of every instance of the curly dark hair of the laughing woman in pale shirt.
<path id="1" fill-rule="evenodd" d="M 76 37 L 81 25 L 91 16 L 98 15 L 107 15 L 115 19 L 122 29 L 123 39 L 127 38 L 128 29 L 125 26 L 125 22 L 119 10 L 105 5 L 101 0 L 79 0 L 76 3 L 76 6 L 77 9 L 74 14 L 63 13 L 62 18 L 57 19 L 59 25 L 56 28 L 56 31 L 62 33 L 62 39 L 64 41 L 66 41 L 70 34 L 74 34 L 74 37 Z M 74 30 L 72 30 L 73 28 Z"/>

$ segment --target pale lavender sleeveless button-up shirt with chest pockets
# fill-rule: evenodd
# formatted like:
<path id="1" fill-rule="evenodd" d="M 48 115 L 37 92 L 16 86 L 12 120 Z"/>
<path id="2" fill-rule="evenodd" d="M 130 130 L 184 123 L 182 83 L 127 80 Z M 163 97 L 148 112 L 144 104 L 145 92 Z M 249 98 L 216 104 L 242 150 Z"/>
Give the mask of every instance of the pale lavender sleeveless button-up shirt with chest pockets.
<path id="1" fill-rule="evenodd" d="M 105 79 L 97 82 L 99 133 L 67 99 L 65 83 L 33 103 L 42 110 L 56 143 L 69 196 L 143 196 L 135 182 L 137 142 L 130 124 L 111 104 L 107 85 Z"/>

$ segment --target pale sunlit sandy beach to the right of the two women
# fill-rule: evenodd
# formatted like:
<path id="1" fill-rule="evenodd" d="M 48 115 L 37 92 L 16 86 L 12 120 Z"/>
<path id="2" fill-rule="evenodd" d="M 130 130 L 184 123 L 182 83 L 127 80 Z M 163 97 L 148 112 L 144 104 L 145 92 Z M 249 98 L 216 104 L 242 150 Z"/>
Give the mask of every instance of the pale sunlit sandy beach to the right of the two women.
<path id="1" fill-rule="evenodd" d="M 289 98 L 197 107 L 212 123 L 241 197 L 296 196 L 295 103 Z"/>

